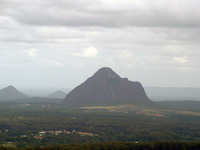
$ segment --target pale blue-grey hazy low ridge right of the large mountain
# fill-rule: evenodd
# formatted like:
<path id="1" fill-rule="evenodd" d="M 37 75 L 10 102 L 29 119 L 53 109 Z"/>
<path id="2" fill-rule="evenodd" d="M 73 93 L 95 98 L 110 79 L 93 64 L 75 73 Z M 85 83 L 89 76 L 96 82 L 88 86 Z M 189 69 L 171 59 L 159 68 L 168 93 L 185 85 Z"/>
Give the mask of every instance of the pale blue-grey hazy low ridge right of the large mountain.
<path id="1" fill-rule="evenodd" d="M 153 101 L 166 100 L 193 100 L 200 101 L 200 88 L 176 88 L 176 87 L 144 87 L 150 99 Z"/>

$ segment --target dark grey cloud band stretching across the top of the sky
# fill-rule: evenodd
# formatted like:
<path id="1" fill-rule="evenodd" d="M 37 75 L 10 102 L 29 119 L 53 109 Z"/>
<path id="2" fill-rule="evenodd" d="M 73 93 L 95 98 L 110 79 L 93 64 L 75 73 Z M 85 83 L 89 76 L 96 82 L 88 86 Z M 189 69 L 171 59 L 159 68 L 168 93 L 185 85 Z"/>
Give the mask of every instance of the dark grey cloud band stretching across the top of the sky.
<path id="1" fill-rule="evenodd" d="M 6 2 L 5 2 L 6 3 Z M 22 5 L 21 5 L 22 3 Z M 114 3 L 114 2 L 113 2 Z M 122 4 L 121 4 L 122 3 Z M 197 0 L 115 2 L 99 1 L 8 1 L 3 14 L 31 25 L 59 26 L 152 26 L 199 27 Z M 116 9 L 117 8 L 117 9 Z"/>

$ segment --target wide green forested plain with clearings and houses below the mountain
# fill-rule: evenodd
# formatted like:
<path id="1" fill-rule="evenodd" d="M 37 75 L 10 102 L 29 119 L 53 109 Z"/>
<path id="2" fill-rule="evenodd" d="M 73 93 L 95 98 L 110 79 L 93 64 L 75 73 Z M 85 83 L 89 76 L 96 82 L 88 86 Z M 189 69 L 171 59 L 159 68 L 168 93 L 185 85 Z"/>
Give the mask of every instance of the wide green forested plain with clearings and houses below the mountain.
<path id="1" fill-rule="evenodd" d="M 159 145 L 152 141 L 176 144 L 187 141 L 189 143 L 184 145 L 191 146 L 190 142 L 195 142 L 192 144 L 199 146 L 199 112 L 167 106 L 69 107 L 58 103 L 16 102 L 0 105 L 0 145 L 3 148 L 48 149 L 47 146 L 55 148 L 56 144 L 61 147 L 65 144 L 67 148 L 72 145 L 66 144 L 78 143 L 82 145 L 76 146 L 83 149 L 102 149 L 102 145 L 113 145 L 108 142 L 122 147 L 143 145 L 148 149 Z"/>

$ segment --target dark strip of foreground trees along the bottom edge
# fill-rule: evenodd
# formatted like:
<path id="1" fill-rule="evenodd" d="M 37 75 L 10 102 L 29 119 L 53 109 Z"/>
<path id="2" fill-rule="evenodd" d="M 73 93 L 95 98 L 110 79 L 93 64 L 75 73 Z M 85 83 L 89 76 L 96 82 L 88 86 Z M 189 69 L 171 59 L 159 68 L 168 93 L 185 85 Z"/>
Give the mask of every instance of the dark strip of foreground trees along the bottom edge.
<path id="1" fill-rule="evenodd" d="M 111 142 L 97 144 L 54 145 L 40 148 L 12 148 L 13 150 L 199 150 L 200 142 Z M 0 147 L 0 150 L 10 148 Z"/>

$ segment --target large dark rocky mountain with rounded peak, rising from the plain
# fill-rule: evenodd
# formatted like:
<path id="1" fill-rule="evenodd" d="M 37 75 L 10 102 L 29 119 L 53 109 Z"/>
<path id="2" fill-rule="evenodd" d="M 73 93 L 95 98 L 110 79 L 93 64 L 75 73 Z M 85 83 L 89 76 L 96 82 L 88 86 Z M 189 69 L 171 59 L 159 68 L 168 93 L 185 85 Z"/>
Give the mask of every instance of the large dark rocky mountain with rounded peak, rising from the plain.
<path id="1" fill-rule="evenodd" d="M 73 89 L 64 99 L 65 103 L 147 103 L 150 102 L 140 82 L 121 78 L 112 69 L 99 69 L 92 77 Z"/>

